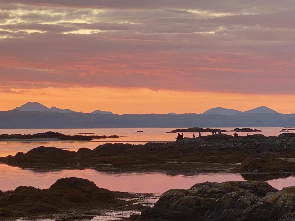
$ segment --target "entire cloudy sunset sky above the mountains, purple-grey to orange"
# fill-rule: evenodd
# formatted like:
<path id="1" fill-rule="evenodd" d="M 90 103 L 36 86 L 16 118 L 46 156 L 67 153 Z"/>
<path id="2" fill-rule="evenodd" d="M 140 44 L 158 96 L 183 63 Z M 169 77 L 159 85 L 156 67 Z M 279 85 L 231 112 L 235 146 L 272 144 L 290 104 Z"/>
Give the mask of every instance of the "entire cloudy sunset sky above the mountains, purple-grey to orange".
<path id="1" fill-rule="evenodd" d="M 0 110 L 295 113 L 294 0 L 0 0 Z"/>

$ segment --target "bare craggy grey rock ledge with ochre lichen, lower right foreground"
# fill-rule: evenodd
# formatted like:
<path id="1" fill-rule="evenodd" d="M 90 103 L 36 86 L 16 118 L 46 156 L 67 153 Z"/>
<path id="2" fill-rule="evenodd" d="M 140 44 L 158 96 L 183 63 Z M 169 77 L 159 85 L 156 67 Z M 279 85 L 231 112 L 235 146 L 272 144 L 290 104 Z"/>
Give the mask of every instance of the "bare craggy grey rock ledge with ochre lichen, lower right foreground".
<path id="1" fill-rule="evenodd" d="M 137 220 L 291 221 L 295 186 L 278 191 L 264 181 L 204 182 L 163 193 Z"/>

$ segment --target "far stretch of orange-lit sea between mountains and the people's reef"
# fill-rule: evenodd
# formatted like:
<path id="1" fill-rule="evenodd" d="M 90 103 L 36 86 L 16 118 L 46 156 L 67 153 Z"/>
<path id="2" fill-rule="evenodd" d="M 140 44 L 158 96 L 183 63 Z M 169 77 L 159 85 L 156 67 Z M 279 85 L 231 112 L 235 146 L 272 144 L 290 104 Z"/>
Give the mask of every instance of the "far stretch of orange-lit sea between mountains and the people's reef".
<path id="1" fill-rule="evenodd" d="M 242 128 L 242 127 L 240 127 Z M 145 144 L 147 142 L 168 142 L 175 141 L 176 133 L 166 133 L 177 128 L 104 128 L 104 129 L 9 129 L 0 130 L 0 134 L 34 134 L 43 133 L 46 131 L 54 131 L 65 135 L 77 135 L 78 133 L 94 133 L 88 135 L 118 135 L 119 138 L 106 138 L 94 141 L 0 141 L 0 156 L 14 156 L 17 152 L 26 153 L 32 148 L 38 146 L 53 146 L 70 151 L 77 151 L 81 147 L 94 149 L 95 147 L 105 143 L 131 143 Z M 234 128 L 220 128 L 223 130 L 233 130 Z M 262 132 L 248 132 L 249 135 L 260 133 L 265 136 L 278 136 L 281 134 L 282 128 L 278 127 L 263 127 L 253 128 Z M 145 133 L 134 133 L 136 131 L 145 131 Z M 292 132 L 292 131 L 290 131 Z M 295 132 L 295 131 L 294 131 Z M 223 132 L 232 135 L 233 132 Z M 211 133 L 202 133 L 203 136 Z M 240 136 L 246 136 L 247 132 L 240 132 Z M 85 134 L 87 135 L 87 134 Z M 185 137 L 192 137 L 192 133 L 184 133 Z"/>

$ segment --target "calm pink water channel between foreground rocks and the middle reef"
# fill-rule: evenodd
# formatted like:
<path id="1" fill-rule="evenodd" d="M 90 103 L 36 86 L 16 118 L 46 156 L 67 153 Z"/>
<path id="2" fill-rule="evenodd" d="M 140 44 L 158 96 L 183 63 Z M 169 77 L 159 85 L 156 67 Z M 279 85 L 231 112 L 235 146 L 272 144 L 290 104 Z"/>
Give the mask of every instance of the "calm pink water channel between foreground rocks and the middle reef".
<path id="1" fill-rule="evenodd" d="M 13 190 L 18 186 L 33 186 L 40 189 L 49 188 L 57 179 L 79 177 L 93 181 L 98 187 L 112 191 L 163 193 L 168 189 L 189 189 L 202 182 L 242 181 L 240 174 L 199 174 L 195 176 L 168 176 L 166 174 L 106 174 L 93 169 L 63 170 L 51 172 L 33 172 L 27 169 L 0 164 L 0 189 Z M 271 180 L 269 183 L 277 188 L 295 185 L 293 176 Z"/>

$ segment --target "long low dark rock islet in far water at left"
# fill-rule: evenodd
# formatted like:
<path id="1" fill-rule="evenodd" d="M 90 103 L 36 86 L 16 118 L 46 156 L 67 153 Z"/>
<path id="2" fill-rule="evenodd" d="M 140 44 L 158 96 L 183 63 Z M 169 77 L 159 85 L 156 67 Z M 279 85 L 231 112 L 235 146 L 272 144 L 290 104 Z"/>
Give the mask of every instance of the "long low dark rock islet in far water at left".
<path id="1" fill-rule="evenodd" d="M 57 138 L 58 140 L 77 140 L 77 141 L 91 141 L 93 139 L 105 139 L 105 138 L 119 138 L 117 135 L 112 136 L 82 136 L 74 135 L 67 136 L 62 133 L 47 131 L 45 133 L 36 133 L 36 134 L 1 134 L 0 140 L 4 139 L 37 139 L 37 138 Z"/>

